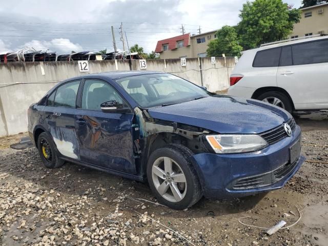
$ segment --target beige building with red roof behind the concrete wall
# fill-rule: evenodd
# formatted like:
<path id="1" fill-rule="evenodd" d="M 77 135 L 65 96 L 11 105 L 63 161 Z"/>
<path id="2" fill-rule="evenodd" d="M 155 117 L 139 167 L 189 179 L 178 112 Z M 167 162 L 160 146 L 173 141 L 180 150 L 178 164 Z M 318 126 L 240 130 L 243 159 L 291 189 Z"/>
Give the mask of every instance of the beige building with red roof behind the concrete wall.
<path id="1" fill-rule="evenodd" d="M 159 40 L 155 52 L 161 59 L 182 57 L 206 57 L 206 50 L 211 40 L 216 38 L 217 30 L 190 35 L 190 33 Z"/>

